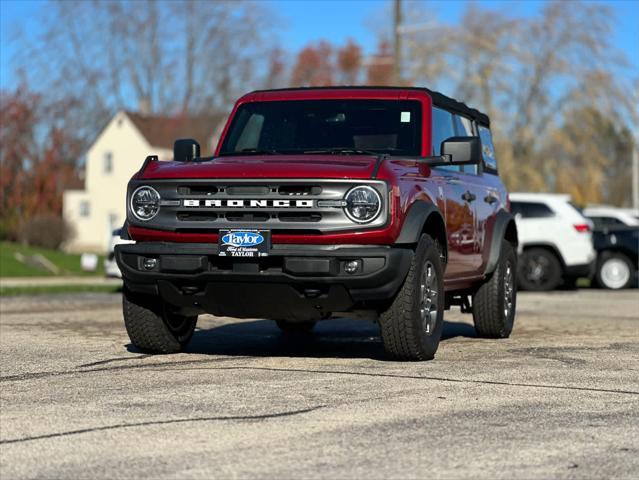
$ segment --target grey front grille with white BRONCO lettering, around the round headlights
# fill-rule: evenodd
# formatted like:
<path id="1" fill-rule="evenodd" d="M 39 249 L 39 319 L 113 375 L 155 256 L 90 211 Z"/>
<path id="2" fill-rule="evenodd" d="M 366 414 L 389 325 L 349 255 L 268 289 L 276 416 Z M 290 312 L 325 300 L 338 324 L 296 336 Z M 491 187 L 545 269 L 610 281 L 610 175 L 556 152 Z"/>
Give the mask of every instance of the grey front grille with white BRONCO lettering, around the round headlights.
<path id="1" fill-rule="evenodd" d="M 357 185 L 370 185 L 382 198 L 382 212 L 358 225 L 341 201 Z M 129 223 L 180 232 L 217 232 L 225 228 L 263 228 L 280 233 L 321 233 L 379 228 L 388 216 L 388 189 L 379 180 L 133 180 L 129 193 L 151 185 L 161 197 L 158 215 Z"/>

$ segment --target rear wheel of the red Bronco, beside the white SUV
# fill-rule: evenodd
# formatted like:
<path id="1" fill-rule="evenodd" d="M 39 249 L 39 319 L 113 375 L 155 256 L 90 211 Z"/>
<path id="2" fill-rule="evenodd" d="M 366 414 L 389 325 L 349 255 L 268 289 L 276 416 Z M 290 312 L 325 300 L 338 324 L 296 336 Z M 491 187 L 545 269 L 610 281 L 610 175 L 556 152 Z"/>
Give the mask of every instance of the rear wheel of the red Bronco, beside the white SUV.
<path id="1" fill-rule="evenodd" d="M 473 322 L 483 338 L 508 338 L 517 308 L 517 255 L 513 245 L 501 244 L 497 268 L 473 295 Z"/>

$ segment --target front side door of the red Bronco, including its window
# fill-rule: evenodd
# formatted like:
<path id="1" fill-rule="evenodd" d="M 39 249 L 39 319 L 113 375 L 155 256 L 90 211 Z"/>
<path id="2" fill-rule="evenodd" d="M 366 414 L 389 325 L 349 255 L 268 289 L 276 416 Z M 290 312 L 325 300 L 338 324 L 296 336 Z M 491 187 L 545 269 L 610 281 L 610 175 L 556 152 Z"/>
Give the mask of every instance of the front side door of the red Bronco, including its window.
<path id="1" fill-rule="evenodd" d="M 439 155 L 441 143 L 456 135 L 453 115 L 433 107 L 433 155 Z M 446 280 L 473 275 L 475 254 L 475 212 L 458 166 L 434 169 L 443 180 L 445 190 L 445 217 L 448 234 L 448 266 Z"/>

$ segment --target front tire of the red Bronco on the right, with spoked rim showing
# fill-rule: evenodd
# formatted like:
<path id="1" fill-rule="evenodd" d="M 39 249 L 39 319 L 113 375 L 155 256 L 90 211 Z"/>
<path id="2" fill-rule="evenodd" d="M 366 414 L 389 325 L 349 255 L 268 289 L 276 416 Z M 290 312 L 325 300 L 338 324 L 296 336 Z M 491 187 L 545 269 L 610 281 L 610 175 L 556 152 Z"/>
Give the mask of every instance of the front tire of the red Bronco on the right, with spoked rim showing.
<path id="1" fill-rule="evenodd" d="M 430 236 L 421 236 L 404 284 L 379 323 L 384 349 L 392 358 L 435 356 L 444 328 L 444 267 Z"/>

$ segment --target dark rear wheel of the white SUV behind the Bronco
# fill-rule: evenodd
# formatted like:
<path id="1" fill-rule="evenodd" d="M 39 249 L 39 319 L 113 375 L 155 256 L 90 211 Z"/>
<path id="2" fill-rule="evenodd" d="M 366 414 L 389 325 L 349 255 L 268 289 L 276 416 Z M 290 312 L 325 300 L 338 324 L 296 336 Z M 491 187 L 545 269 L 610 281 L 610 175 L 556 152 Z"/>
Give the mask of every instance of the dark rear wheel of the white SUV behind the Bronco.
<path id="1" fill-rule="evenodd" d="M 545 248 L 525 250 L 519 259 L 517 278 L 522 290 L 545 292 L 561 283 L 562 268 L 557 256 Z"/>

